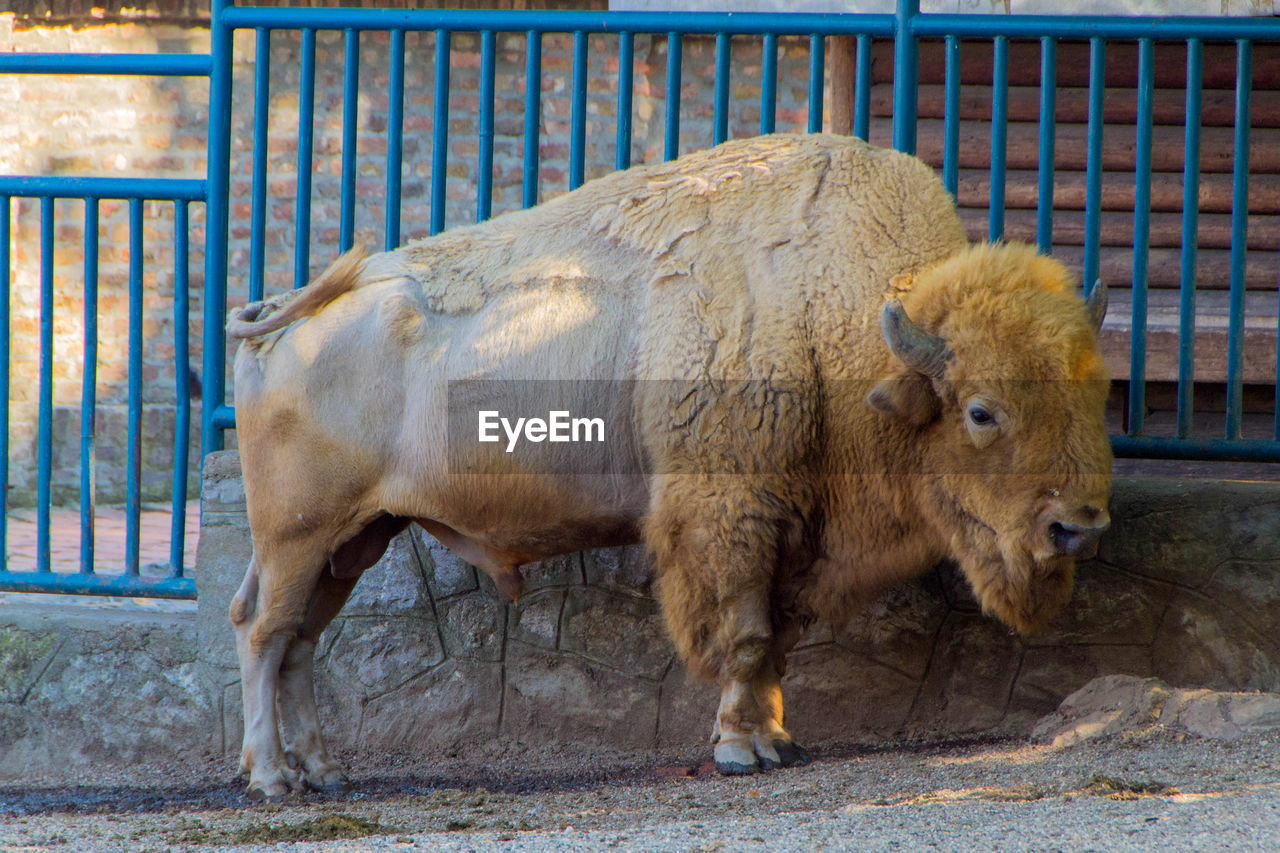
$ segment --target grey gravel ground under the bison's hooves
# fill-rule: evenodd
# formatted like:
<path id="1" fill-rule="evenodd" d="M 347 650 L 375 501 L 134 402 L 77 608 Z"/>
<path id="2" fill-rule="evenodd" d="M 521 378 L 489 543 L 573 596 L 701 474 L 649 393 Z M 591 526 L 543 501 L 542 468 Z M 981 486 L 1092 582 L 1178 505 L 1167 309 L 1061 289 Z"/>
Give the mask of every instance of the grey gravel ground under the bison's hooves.
<path id="1" fill-rule="evenodd" d="M 3 786 L 0 850 L 1276 850 L 1275 743 L 828 745 L 745 779 L 701 753 L 490 744 L 429 767 L 357 757 L 347 794 L 256 807 L 212 760 Z"/>

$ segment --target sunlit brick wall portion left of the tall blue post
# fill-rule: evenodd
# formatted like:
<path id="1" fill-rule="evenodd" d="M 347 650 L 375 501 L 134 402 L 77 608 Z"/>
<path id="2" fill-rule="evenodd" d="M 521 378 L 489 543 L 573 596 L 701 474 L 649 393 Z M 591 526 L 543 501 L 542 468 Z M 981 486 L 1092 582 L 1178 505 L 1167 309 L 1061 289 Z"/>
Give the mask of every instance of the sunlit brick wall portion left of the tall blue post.
<path id="1" fill-rule="evenodd" d="M 18 29 L 12 17 L 0 15 L 0 50 L 200 53 L 209 50 L 209 31 L 143 24 Z M 202 177 L 207 90 L 207 82 L 198 78 L 0 74 L 0 104 L 5 105 L 0 108 L 0 173 Z M 41 205 L 15 199 L 9 214 L 10 501 L 20 505 L 35 491 Z M 96 474 L 100 500 L 114 502 L 123 500 L 127 435 L 128 204 L 102 201 L 99 218 Z M 147 202 L 143 219 L 143 483 L 146 497 L 159 500 L 168 497 L 173 473 L 173 205 Z M 202 205 L 191 206 L 191 272 L 198 288 Z M 56 202 L 54 222 L 54 491 L 61 503 L 78 500 L 84 204 Z M 200 304 L 197 291 L 193 333 L 198 333 Z"/>

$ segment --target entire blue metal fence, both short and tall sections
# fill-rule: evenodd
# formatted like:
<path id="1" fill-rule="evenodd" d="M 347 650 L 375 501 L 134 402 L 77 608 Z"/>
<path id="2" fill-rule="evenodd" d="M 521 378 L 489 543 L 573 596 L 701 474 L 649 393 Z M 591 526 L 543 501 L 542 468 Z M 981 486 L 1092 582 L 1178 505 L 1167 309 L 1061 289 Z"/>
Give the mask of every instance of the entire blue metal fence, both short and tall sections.
<path id="1" fill-rule="evenodd" d="M 586 92 L 588 92 L 588 38 L 617 40 L 618 72 L 616 86 L 616 168 L 631 164 L 632 149 L 632 74 L 635 63 L 635 37 L 639 35 L 666 36 L 666 109 L 663 155 L 675 158 L 681 150 L 682 113 L 681 82 L 685 38 L 703 36 L 714 38 L 714 81 L 712 97 L 710 142 L 728 137 L 730 87 L 733 73 L 732 37 L 760 38 L 760 110 L 759 131 L 771 132 L 776 127 L 778 40 L 799 37 L 809 45 L 808 129 L 823 127 L 823 91 L 827 63 L 827 38 L 851 36 L 856 40 L 856 69 L 854 83 L 852 129 L 867 138 L 870 124 L 872 101 L 872 40 L 893 40 L 893 110 L 892 143 L 905 151 L 915 151 L 916 97 L 919 41 L 942 40 L 945 56 L 945 117 L 942 127 L 942 175 L 946 186 L 956 191 L 959 181 L 960 150 L 960 97 L 961 97 L 961 41 L 988 40 L 993 51 L 992 111 L 991 111 L 991 163 L 988 233 L 1000 238 L 1005 231 L 1005 173 L 1007 151 L 1010 41 L 1036 40 L 1041 50 L 1039 69 L 1039 146 L 1036 215 L 1036 241 L 1048 251 L 1053 234 L 1055 186 L 1055 114 L 1057 92 L 1057 47 L 1060 41 L 1087 41 L 1089 45 L 1088 85 L 1088 137 L 1084 204 L 1084 272 L 1085 280 L 1093 282 L 1100 269 L 1100 233 L 1102 210 L 1102 113 L 1105 101 L 1103 72 L 1106 49 L 1110 42 L 1138 44 L 1138 122 L 1135 128 L 1134 169 L 1134 232 L 1133 232 L 1133 334 L 1130 338 L 1128 388 L 1128 423 L 1123 434 L 1114 435 L 1116 452 L 1121 456 L 1148 456 L 1166 459 L 1256 460 L 1280 461 L 1280 398 L 1276 401 L 1274 434 L 1270 438 L 1245 438 L 1243 418 L 1243 341 L 1244 341 L 1244 266 L 1248 228 L 1249 190 L 1249 96 L 1252 49 L 1256 42 L 1280 41 L 1280 20 L 1230 18 L 1078 18 L 1078 17 L 1018 17 L 1018 15 L 943 15 L 920 14 L 918 0 L 900 0 L 893 14 L 827 15 L 827 14 L 650 14 L 650 13 L 579 13 L 579 12 L 485 12 L 485 10 L 388 10 L 388 9 L 288 9 L 234 6 L 224 0 L 212 3 L 212 31 L 210 55 L 8 55 L 0 56 L 0 73 L 44 74 L 161 74 L 207 76 L 209 86 L 209 172 L 202 181 L 182 179 L 106 179 L 106 178 L 44 178 L 0 177 L 0 268 L 10 268 L 9 257 L 9 205 L 10 197 L 36 197 L 42 204 L 41 245 L 41 411 L 38 455 L 40 471 L 37 514 L 41 537 L 41 556 L 33 573 L 0 571 L 0 589 L 59 590 L 78 593 L 193 596 L 193 584 L 184 576 L 182 566 L 182 507 L 186 502 L 186 293 L 187 225 L 191 204 L 205 205 L 206 251 L 204 277 L 204 407 L 201 423 L 201 448 L 204 453 L 223 447 L 224 430 L 234 426 L 234 410 L 229 406 L 225 388 L 227 343 L 223 337 L 228 304 L 228 232 L 229 232 L 229 164 L 232 141 L 232 47 L 237 32 L 252 33 L 257 47 L 253 72 L 252 117 L 252 201 L 248 218 L 250 256 L 247 296 L 264 295 L 264 264 L 266 255 L 268 210 L 268 120 L 273 90 L 270 67 L 270 37 L 273 32 L 300 33 L 300 122 L 296 151 L 297 202 L 294 207 L 294 284 L 306 282 L 311 265 L 311 173 L 314 161 L 314 109 L 316 85 L 316 35 L 323 31 L 342 33 L 346 55 L 342 108 L 342 160 L 340 199 L 338 223 L 338 250 L 348 248 L 355 238 L 356 190 L 356 132 L 358 117 L 356 101 L 360 92 L 358 55 L 361 38 L 370 32 L 389 33 L 389 51 L 385 61 L 389 77 L 387 115 L 387 168 L 384 207 L 384 248 L 393 248 L 401 241 L 403 123 L 406 99 L 406 33 L 434 35 L 434 88 L 433 131 L 430 152 L 430 232 L 445 227 L 445 178 L 449 151 L 449 70 L 451 44 L 454 33 L 480 36 L 480 86 L 477 111 L 476 218 L 485 219 L 492 213 L 494 164 L 494 68 L 495 38 L 498 35 L 516 35 L 525 40 L 525 74 L 527 81 L 543 76 L 543 40 L 547 35 L 572 37 L 570 68 L 570 123 L 568 123 L 568 186 L 579 186 L 585 178 L 586 158 Z M 1147 383 L 1147 260 L 1151 215 L 1151 156 L 1153 114 L 1153 47 L 1157 41 L 1175 41 L 1185 45 L 1185 151 L 1181 287 L 1179 293 L 1179 352 L 1176 429 L 1171 434 L 1152 434 L 1144 421 Z M 1194 388 L 1194 333 L 1196 333 L 1196 259 L 1197 215 L 1201 142 L 1201 79 L 1202 49 L 1206 42 L 1225 41 L 1235 45 L 1235 132 L 1233 172 L 1233 214 L 1230 250 L 1230 318 L 1226 353 L 1226 403 L 1224 429 L 1219 434 L 1197 434 L 1192 415 L 1197 411 Z M 540 128 L 540 86 L 527 85 L 524 97 L 524 154 L 521 200 L 525 206 L 539 196 L 539 146 L 544 138 Z M 52 369 L 47 364 L 51 353 L 51 273 L 54 199 L 84 200 L 84 279 L 86 279 L 86 336 L 84 336 L 84 398 L 82 402 L 82 562 L 77 574 L 59 574 L 50 570 L 49 511 L 51 496 L 49 483 L 49 447 L 51 430 Z M 96 362 L 95 309 L 92 286 L 96 283 L 97 257 L 97 204 L 102 199 L 128 200 L 131 210 L 131 268 L 129 268 L 129 552 L 124 573 L 119 576 L 99 576 L 92 571 L 93 546 L 93 382 L 92 365 Z M 141 364 L 137 361 L 141 339 L 133 329 L 141 329 L 142 320 L 142 201 L 156 200 L 174 205 L 175 216 L 175 280 L 180 284 L 175 301 L 178 320 L 174 328 L 178 362 L 179 425 L 175 438 L 174 475 L 174 529 L 170 576 L 145 579 L 138 573 L 138 441 L 142 412 Z M 1277 270 L 1280 275 L 1280 270 Z M 9 277 L 5 275 L 8 291 Z M 8 298 L 0 300 L 8 328 Z M 137 327 L 132 325 L 137 323 Z M 140 332 L 138 332 L 140 333 Z M 0 391 L 8 397 L 9 350 L 0 347 Z M 46 405 L 47 403 L 47 405 Z M 47 418 L 46 418 L 47 415 Z M 5 418 L 0 415 L 0 418 Z M 0 423 L 0 478 L 8 484 L 8 421 Z M 0 553 L 4 552 L 5 523 L 0 519 Z"/>

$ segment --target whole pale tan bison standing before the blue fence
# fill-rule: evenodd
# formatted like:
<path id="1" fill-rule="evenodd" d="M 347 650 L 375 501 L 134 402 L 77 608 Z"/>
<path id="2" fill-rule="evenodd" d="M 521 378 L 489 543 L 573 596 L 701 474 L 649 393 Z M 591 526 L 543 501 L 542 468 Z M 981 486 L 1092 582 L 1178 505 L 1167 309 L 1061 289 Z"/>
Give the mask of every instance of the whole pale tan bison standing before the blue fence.
<path id="1" fill-rule="evenodd" d="M 1030 247 L 968 245 L 919 160 L 832 136 L 611 174 L 241 310 L 251 794 L 342 784 L 316 638 L 411 521 L 511 598 L 525 562 L 644 542 L 722 689 L 719 770 L 806 761 L 780 679 L 813 619 L 943 558 L 1020 631 L 1070 597 L 1108 524 L 1102 311 Z M 493 412 L 552 397 L 608 441 L 526 421 L 540 455 L 508 453 Z"/>

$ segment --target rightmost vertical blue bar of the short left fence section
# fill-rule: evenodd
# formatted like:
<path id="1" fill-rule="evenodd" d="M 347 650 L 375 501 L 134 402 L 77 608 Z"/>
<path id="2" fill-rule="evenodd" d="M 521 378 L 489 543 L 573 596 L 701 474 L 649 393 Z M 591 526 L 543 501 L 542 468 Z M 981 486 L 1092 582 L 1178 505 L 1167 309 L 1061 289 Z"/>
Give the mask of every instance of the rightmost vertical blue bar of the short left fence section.
<path id="1" fill-rule="evenodd" d="M 187 465 L 191 444 L 191 282 L 187 277 L 187 202 L 173 207 L 173 516 L 169 525 L 169 576 L 182 578 L 187 546 Z M 87 336 L 86 336 L 87 337 Z"/>

